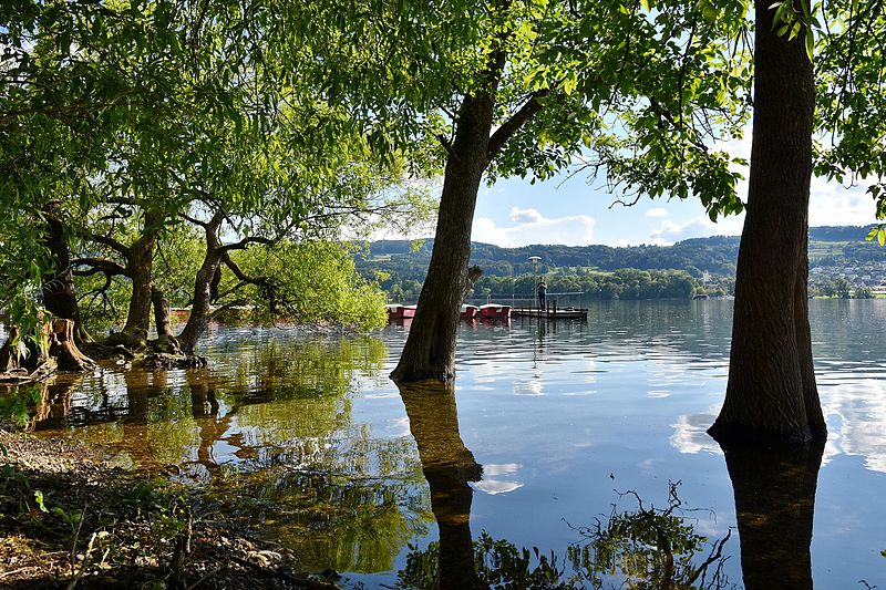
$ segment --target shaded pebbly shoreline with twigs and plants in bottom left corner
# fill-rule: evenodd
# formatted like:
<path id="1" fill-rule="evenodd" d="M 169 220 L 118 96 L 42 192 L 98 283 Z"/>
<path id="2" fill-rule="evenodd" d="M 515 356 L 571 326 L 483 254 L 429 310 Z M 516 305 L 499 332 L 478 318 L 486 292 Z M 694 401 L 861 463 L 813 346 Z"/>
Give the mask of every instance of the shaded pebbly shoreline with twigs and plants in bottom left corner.
<path id="1" fill-rule="evenodd" d="M 0 427 L 4 588 L 339 588 L 163 470 Z"/>

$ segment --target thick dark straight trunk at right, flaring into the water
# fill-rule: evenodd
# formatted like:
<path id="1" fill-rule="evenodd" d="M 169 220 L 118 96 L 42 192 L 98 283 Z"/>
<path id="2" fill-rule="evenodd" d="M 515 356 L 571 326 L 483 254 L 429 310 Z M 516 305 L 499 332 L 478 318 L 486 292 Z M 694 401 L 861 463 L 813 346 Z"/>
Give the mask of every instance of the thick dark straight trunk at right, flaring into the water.
<path id="1" fill-rule="evenodd" d="M 803 33 L 773 32 L 758 0 L 748 215 L 735 277 L 729 383 L 710 434 L 799 443 L 825 434 L 807 320 L 807 224 L 815 85 Z"/>

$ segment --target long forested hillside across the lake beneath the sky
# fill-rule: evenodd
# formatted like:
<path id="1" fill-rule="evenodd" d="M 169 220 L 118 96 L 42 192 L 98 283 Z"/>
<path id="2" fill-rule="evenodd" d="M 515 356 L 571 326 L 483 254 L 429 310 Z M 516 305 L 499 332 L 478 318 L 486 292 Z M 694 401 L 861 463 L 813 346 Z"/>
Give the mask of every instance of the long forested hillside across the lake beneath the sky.
<path id="1" fill-rule="evenodd" d="M 818 269 L 813 272 L 813 286 L 816 280 L 823 287 L 825 281 L 847 276 L 851 277 L 851 284 L 873 287 L 884 282 L 886 249 L 876 242 L 866 241 L 867 232 L 868 228 L 862 226 L 810 228 L 811 267 Z M 688 239 L 673 246 L 642 245 L 620 248 L 602 245 L 502 248 L 474 242 L 471 263 L 480 266 L 484 275 L 475 286 L 476 293 L 484 290 L 498 293 L 502 289 L 506 292 L 532 292 L 533 281 L 521 277 L 536 275 L 547 275 L 555 283 L 564 283 L 565 289 L 570 286 L 571 289 L 568 290 L 591 287 L 597 292 L 607 293 L 609 287 L 600 283 L 601 277 L 619 271 L 615 277 L 619 278 L 626 275 L 625 269 L 632 269 L 650 271 L 645 275 L 646 284 L 660 283 L 659 288 L 622 287 L 626 292 L 618 297 L 625 298 L 628 293 L 632 293 L 632 299 L 682 297 L 687 289 L 692 291 L 692 286 L 703 287 L 704 279 L 727 292 L 730 291 L 735 273 L 739 240 L 739 236 L 714 236 Z M 358 250 L 356 263 L 363 277 L 378 280 L 391 296 L 409 299 L 410 296 L 416 296 L 421 288 L 432 248 L 433 239 L 374 241 Z M 538 257 L 540 260 L 533 262 L 529 257 Z M 693 281 L 676 280 L 673 273 L 660 271 L 683 271 Z M 589 281 L 589 277 L 595 276 L 596 287 L 584 284 Z M 609 282 L 611 281 L 604 281 Z"/>

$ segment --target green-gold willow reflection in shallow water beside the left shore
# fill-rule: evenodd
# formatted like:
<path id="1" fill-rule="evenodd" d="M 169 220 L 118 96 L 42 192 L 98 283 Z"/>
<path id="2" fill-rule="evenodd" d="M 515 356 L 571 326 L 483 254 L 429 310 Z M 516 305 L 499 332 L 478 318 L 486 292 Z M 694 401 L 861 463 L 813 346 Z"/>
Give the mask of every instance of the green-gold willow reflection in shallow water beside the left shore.
<path id="1" fill-rule="evenodd" d="M 38 427 L 97 443 L 120 465 L 175 466 L 306 570 L 394 569 L 433 517 L 414 442 L 352 415 L 349 395 L 382 373 L 384 343 L 223 334 L 212 349 L 210 369 L 106 365 L 81 377 L 72 412 Z"/>

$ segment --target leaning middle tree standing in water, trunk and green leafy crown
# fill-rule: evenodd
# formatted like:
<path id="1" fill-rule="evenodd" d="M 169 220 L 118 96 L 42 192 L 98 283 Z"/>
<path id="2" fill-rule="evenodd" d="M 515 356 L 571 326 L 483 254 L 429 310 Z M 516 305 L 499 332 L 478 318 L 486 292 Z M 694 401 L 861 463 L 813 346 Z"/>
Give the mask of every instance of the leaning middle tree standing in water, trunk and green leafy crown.
<path id="1" fill-rule="evenodd" d="M 729 159 L 709 151 L 703 133 L 683 123 L 683 116 L 692 121 L 709 110 L 718 111 L 719 125 L 731 128 L 741 121 L 741 112 L 717 104 L 722 85 L 714 90 L 702 76 L 684 83 L 684 69 L 699 60 L 711 69 L 733 69 L 729 52 L 711 39 L 736 21 L 723 25 L 693 7 L 678 3 L 676 15 L 662 11 L 653 20 L 638 15 L 639 3 L 628 9 L 620 2 L 491 1 L 474 17 L 467 46 L 441 48 L 480 58 L 456 62 L 467 71 L 437 79 L 455 108 L 449 112 L 451 133 L 442 139 L 445 172 L 434 251 L 394 381 L 454 376 L 459 308 L 481 273 L 467 265 L 484 175 L 545 178 L 587 147 L 598 155 L 595 168 L 616 184 L 639 184 L 652 194 L 667 188 L 683 197 L 697 192 L 712 210 L 740 210 Z M 687 12 L 697 18 L 684 19 Z M 443 15 L 443 22 L 451 18 Z M 674 41 L 681 35 L 689 37 L 684 46 Z M 704 60 L 705 52 L 714 58 Z M 724 80 L 729 91 L 744 84 L 738 75 Z M 619 120 L 625 134 L 606 133 L 610 108 L 626 113 Z M 656 144 L 668 138 L 662 130 L 674 133 Z M 663 165 L 674 156 L 679 166 Z"/>

